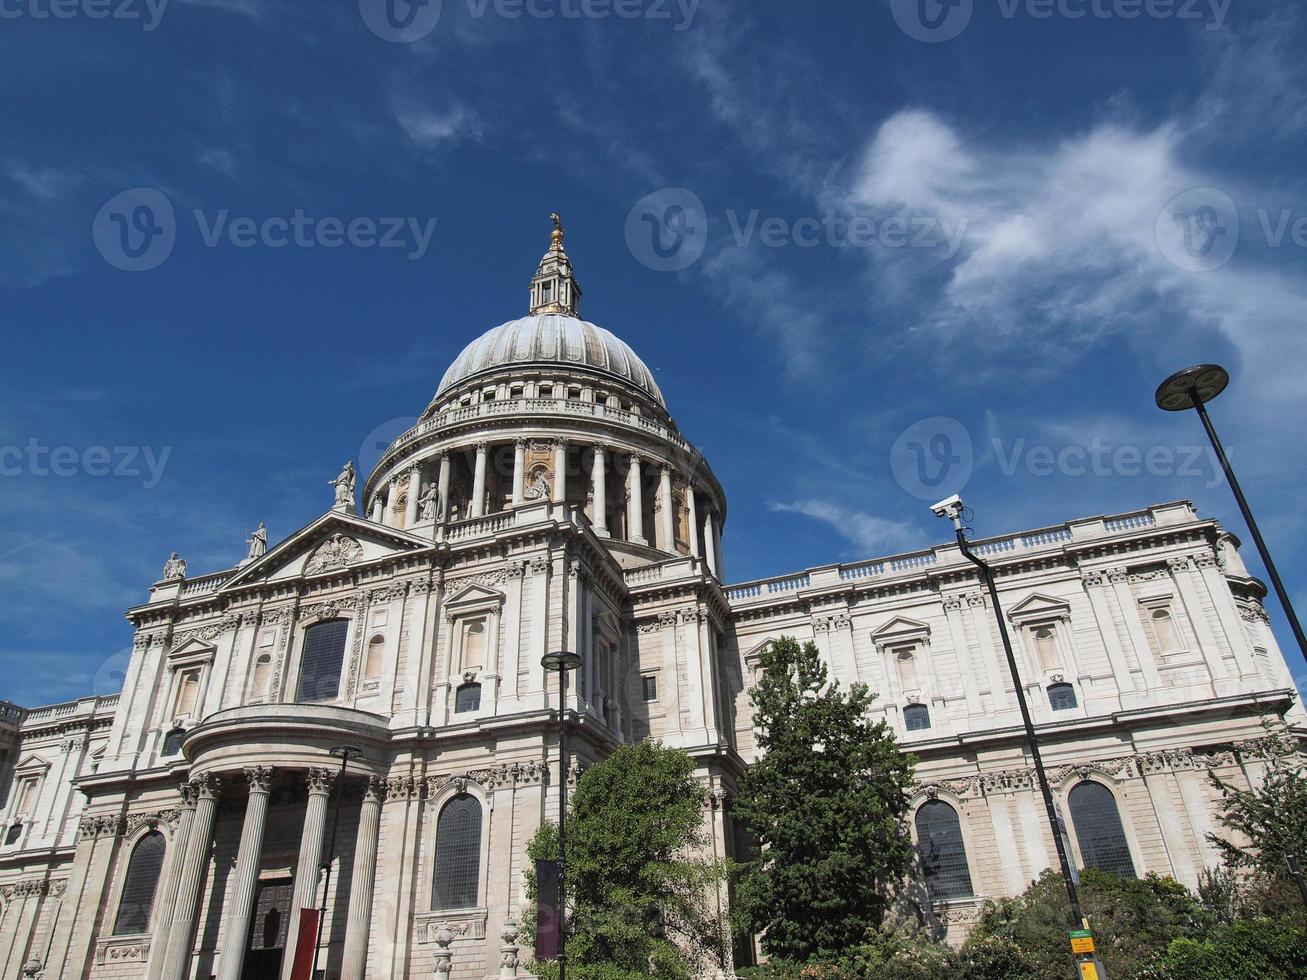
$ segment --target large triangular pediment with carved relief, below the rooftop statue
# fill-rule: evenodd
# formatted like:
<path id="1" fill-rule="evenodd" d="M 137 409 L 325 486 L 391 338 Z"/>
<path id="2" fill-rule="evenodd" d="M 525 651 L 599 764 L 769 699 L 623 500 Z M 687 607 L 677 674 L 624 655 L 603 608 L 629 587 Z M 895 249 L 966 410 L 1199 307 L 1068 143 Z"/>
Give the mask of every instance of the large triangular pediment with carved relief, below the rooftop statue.
<path id="1" fill-rule="evenodd" d="M 238 571 L 223 583 L 222 591 L 260 581 L 325 575 L 431 546 L 425 537 L 329 511 Z"/>

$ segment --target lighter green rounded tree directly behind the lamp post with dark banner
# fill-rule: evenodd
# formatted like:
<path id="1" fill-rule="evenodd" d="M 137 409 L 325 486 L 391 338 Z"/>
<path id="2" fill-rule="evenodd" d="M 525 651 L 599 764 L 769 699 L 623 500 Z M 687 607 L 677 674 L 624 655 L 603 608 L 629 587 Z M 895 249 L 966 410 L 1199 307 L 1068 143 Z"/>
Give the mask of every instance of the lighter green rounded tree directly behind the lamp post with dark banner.
<path id="1" fill-rule="evenodd" d="M 725 869 L 703 855 L 704 793 L 694 760 L 657 742 L 623 746 L 582 775 L 567 813 L 569 977 L 684 980 L 719 962 Z M 557 860 L 558 826 L 542 825 L 527 853 Z M 527 890 L 535 902 L 531 873 Z"/>

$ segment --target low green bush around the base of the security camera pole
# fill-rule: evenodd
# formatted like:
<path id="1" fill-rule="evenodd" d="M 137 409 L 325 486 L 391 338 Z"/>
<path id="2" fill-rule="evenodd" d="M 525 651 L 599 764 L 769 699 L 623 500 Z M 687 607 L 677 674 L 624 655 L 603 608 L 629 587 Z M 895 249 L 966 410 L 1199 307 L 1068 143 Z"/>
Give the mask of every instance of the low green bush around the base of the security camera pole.
<path id="1" fill-rule="evenodd" d="M 1131 980 L 1172 939 L 1204 936 L 1213 925 L 1199 900 L 1172 878 L 1117 878 L 1090 869 L 1081 873 L 1078 891 L 1112 980 Z M 965 949 L 1006 939 L 1019 947 L 1035 976 L 1073 980 L 1080 973 L 1067 939 L 1069 919 L 1061 874 L 1050 869 L 1022 895 L 985 903 Z"/>

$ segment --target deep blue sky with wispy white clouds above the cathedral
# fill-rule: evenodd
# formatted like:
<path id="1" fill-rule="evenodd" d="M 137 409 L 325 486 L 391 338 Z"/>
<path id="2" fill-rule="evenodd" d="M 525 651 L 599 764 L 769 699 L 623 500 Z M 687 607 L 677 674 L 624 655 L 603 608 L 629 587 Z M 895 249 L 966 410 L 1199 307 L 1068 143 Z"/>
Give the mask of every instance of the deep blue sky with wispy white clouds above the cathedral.
<path id="1" fill-rule="evenodd" d="M 938 542 L 936 489 L 982 534 L 1175 498 L 1242 533 L 1153 406 L 1214 361 L 1307 605 L 1291 0 L 60 1 L 0 0 L 0 698 L 114 690 L 169 551 L 324 511 L 525 312 L 554 209 L 727 489 L 731 580 Z"/>

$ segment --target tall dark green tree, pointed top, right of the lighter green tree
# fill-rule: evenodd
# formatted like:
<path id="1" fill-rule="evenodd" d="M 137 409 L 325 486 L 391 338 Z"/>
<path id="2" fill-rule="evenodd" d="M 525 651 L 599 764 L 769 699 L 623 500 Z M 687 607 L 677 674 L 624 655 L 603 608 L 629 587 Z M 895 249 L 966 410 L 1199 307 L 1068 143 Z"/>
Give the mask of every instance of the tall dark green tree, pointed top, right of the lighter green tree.
<path id="1" fill-rule="evenodd" d="M 761 758 L 740 780 L 735 815 L 761 851 L 742 868 L 740 921 L 771 956 L 801 962 L 860 945 L 911 868 L 904 825 L 914 759 L 865 685 L 827 685 L 817 647 L 770 644 L 749 694 Z"/>

